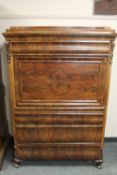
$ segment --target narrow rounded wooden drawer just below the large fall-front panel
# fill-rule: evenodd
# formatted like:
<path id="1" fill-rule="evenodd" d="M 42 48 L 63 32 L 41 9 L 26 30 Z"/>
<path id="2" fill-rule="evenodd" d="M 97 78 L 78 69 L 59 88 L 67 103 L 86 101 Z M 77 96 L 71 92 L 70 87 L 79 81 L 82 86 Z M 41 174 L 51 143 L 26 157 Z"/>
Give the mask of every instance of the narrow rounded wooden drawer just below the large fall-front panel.
<path id="1" fill-rule="evenodd" d="M 103 115 L 16 115 L 16 124 L 102 124 Z"/>

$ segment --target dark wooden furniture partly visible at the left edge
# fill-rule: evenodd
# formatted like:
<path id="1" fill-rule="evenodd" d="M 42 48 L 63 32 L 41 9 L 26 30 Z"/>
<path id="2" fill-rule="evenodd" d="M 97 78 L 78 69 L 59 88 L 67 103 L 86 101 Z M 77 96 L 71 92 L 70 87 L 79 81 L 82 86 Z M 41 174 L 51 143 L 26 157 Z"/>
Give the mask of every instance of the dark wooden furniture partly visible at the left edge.
<path id="1" fill-rule="evenodd" d="M 0 58 L 0 170 L 3 166 L 3 158 L 9 143 L 8 123 L 5 112 L 5 90 L 2 83 L 1 58 Z"/>

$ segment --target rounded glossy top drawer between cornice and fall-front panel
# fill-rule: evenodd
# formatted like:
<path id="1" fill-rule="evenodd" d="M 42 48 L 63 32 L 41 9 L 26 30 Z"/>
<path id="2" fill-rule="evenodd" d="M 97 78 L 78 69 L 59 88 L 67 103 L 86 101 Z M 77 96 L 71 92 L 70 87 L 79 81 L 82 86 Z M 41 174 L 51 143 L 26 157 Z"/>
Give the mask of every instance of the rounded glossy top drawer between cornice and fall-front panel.
<path id="1" fill-rule="evenodd" d="M 53 40 L 49 41 L 49 39 L 44 42 L 20 42 L 20 43 L 12 43 L 11 51 L 13 54 L 18 53 L 43 53 L 43 54 L 49 54 L 49 53 L 67 53 L 67 54 L 111 54 L 112 53 L 112 43 L 105 41 L 105 42 L 99 42 L 99 41 L 79 41 L 76 38 L 74 40 L 69 41 L 63 40 L 60 41 L 60 39 L 56 39 L 56 42 Z"/>

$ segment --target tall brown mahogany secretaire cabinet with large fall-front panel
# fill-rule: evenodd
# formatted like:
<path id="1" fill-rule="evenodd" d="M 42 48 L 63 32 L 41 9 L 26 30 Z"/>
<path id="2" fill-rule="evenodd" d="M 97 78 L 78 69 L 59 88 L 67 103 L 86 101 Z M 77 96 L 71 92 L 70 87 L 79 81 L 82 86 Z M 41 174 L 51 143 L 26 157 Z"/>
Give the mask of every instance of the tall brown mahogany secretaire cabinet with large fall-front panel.
<path id="1" fill-rule="evenodd" d="M 102 27 L 11 27 L 14 160 L 94 160 L 100 167 L 116 33 Z"/>

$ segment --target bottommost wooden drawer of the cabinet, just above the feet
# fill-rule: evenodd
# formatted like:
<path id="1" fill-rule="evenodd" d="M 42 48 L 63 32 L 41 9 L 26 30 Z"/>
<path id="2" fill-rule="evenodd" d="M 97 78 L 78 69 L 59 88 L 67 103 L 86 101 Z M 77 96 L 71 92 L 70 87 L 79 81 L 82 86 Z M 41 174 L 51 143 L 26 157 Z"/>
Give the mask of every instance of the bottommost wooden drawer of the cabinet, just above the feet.
<path id="1" fill-rule="evenodd" d="M 96 160 L 102 159 L 102 150 L 77 144 L 19 146 L 16 155 L 21 160 Z"/>

